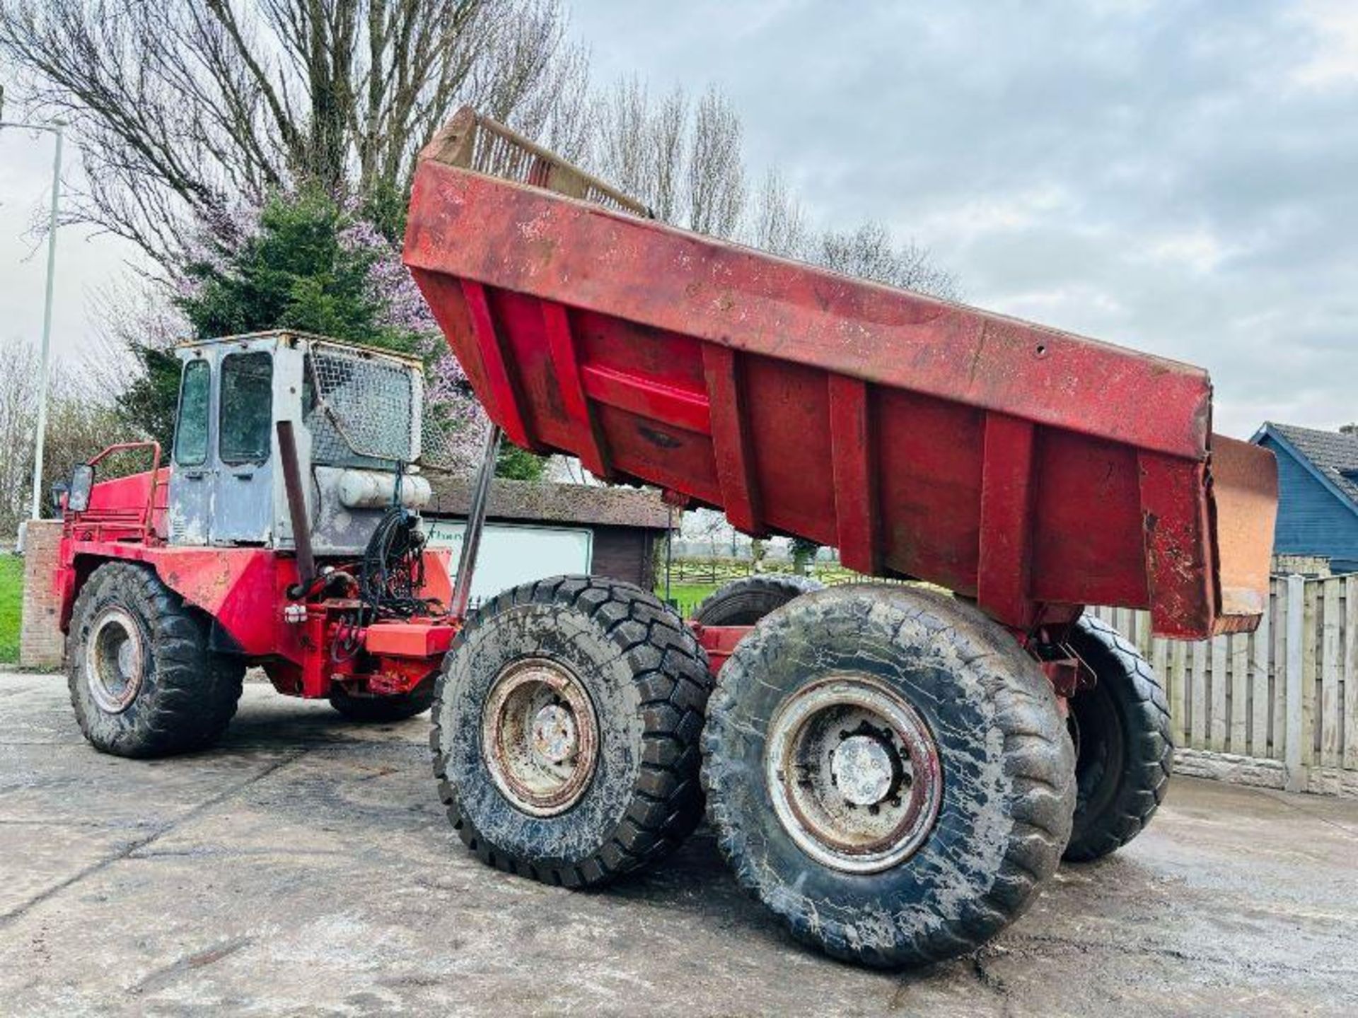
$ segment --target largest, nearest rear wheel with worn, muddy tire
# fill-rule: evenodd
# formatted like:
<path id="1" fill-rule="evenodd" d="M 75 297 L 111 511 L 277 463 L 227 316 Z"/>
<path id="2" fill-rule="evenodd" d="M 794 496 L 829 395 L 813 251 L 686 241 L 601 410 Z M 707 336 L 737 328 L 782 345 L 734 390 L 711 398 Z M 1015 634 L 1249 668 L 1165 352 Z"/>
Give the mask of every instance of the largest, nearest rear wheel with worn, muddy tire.
<path id="1" fill-rule="evenodd" d="M 963 954 L 1020 915 L 1061 859 L 1073 774 L 1036 662 L 918 588 L 834 588 L 769 615 L 703 733 L 708 812 L 741 886 L 799 939 L 876 966 Z"/>

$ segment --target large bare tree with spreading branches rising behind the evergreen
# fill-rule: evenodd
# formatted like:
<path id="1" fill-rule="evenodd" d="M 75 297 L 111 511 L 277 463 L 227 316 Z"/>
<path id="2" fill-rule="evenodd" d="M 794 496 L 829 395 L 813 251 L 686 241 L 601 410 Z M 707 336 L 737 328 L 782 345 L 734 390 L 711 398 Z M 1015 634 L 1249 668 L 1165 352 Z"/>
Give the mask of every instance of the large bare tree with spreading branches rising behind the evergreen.
<path id="1" fill-rule="evenodd" d="M 561 0 L 0 0 L 0 57 L 79 133 L 73 216 L 163 257 L 300 179 L 399 202 L 463 102 L 583 148 L 566 24 Z"/>

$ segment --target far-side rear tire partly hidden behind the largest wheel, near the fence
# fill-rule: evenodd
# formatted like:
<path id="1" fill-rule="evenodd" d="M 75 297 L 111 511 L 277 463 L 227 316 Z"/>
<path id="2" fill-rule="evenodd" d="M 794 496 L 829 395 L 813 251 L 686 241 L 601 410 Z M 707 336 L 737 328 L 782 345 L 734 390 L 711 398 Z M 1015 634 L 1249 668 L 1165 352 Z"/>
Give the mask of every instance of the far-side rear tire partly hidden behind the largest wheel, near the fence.
<path id="1" fill-rule="evenodd" d="M 1173 733 L 1160 680 L 1120 633 L 1084 615 L 1066 642 L 1096 676 L 1070 700 L 1080 752 L 1065 858 L 1089 862 L 1146 829 L 1169 789 Z"/>

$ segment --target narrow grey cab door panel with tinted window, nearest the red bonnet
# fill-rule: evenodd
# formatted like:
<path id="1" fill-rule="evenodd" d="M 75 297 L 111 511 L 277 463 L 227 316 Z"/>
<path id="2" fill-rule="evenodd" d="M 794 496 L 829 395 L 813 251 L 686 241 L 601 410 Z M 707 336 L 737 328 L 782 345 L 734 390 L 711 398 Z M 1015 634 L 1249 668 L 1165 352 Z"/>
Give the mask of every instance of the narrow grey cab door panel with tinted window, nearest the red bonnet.
<path id="1" fill-rule="evenodd" d="M 179 376 L 170 464 L 170 543 L 206 544 L 212 520 L 212 361 L 187 360 Z"/>

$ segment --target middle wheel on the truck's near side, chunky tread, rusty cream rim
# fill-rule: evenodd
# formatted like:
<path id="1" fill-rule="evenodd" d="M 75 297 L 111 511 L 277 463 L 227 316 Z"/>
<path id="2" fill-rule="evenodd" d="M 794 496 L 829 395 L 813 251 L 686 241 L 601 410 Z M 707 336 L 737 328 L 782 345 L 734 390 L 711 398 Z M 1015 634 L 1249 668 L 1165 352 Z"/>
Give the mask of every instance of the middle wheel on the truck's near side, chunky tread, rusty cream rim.
<path id="1" fill-rule="evenodd" d="M 430 744 L 448 820 L 482 862 L 603 884 L 702 816 L 712 688 L 689 627 L 630 584 L 554 577 L 479 608 L 444 658 Z"/>

